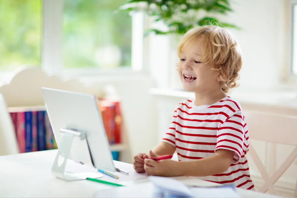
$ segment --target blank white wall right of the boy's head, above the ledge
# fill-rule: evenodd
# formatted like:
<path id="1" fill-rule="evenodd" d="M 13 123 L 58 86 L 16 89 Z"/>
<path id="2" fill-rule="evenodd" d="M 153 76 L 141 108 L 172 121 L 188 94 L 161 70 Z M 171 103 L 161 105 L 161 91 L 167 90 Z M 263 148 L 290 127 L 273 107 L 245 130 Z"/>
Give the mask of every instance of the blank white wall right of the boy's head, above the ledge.
<path id="1" fill-rule="evenodd" d="M 232 8 L 234 12 L 224 18 L 241 27 L 231 30 L 243 53 L 241 88 L 277 86 L 290 64 L 289 1 L 233 1 Z"/>

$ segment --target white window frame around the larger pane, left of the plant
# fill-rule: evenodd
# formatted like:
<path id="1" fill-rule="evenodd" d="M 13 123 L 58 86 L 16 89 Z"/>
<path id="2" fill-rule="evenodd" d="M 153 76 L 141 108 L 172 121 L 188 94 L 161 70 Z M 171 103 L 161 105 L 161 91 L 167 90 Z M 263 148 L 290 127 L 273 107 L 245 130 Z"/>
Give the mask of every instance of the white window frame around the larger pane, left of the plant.
<path id="1" fill-rule="evenodd" d="M 42 30 L 41 30 L 41 69 L 53 75 L 74 78 L 86 76 L 132 76 L 147 75 L 148 64 L 145 64 L 144 29 L 145 15 L 142 12 L 132 13 L 132 42 L 131 66 L 115 68 L 64 68 L 62 57 L 63 35 L 63 0 L 41 0 L 42 3 Z M 21 66 L 20 66 L 21 68 Z M 0 81 L 7 82 L 16 71 L 0 72 Z"/>

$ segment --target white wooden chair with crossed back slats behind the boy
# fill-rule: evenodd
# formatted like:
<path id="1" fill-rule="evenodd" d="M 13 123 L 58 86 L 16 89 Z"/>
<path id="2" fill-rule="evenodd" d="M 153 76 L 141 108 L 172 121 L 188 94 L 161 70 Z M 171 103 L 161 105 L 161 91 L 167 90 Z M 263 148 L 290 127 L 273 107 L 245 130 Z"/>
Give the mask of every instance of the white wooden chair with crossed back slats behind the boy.
<path id="1" fill-rule="evenodd" d="M 244 111 L 244 117 L 247 122 L 249 138 L 251 139 L 248 154 L 253 159 L 265 182 L 258 191 L 267 192 L 269 190 L 271 194 L 276 194 L 274 184 L 297 158 L 297 117 L 249 110 Z M 262 161 L 252 146 L 252 140 L 294 145 L 295 148 L 282 165 L 269 177 Z M 297 182 L 294 197 L 297 197 Z"/>

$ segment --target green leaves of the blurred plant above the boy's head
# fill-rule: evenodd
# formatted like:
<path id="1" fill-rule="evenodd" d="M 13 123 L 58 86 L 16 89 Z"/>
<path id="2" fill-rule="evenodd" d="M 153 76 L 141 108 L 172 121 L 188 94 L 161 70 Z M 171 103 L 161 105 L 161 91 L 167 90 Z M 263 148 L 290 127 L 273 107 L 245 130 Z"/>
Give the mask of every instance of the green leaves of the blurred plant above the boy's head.
<path id="1" fill-rule="evenodd" d="M 146 10 L 146 14 L 148 16 L 156 17 L 154 21 L 162 20 L 168 27 L 170 27 L 170 31 L 161 31 L 159 29 L 149 29 L 146 31 L 145 35 L 154 32 L 155 34 L 164 35 L 164 34 L 184 34 L 193 26 L 205 26 L 205 25 L 215 25 L 226 28 L 236 28 L 240 29 L 234 24 L 229 23 L 221 23 L 219 18 L 213 18 L 205 16 L 201 19 L 197 19 L 196 21 L 192 21 L 191 16 L 187 18 L 186 13 L 192 9 L 195 12 L 203 9 L 210 14 L 224 14 L 226 15 L 228 12 L 232 12 L 233 10 L 230 7 L 229 0 L 203 0 L 196 1 L 195 4 L 188 4 L 187 0 L 171 0 L 171 3 L 168 4 L 169 0 L 128 0 L 129 3 L 140 3 L 146 2 L 148 5 L 154 3 L 157 5 L 156 9 L 148 9 Z M 186 8 L 181 9 L 181 5 L 185 4 Z M 162 5 L 166 5 L 167 9 L 161 9 Z M 129 7 L 126 11 L 139 10 L 137 6 Z M 173 17 L 177 17 L 178 15 L 185 15 L 183 20 L 173 21 Z M 189 25 L 189 21 L 190 25 Z M 191 24 L 192 23 L 192 24 Z"/>

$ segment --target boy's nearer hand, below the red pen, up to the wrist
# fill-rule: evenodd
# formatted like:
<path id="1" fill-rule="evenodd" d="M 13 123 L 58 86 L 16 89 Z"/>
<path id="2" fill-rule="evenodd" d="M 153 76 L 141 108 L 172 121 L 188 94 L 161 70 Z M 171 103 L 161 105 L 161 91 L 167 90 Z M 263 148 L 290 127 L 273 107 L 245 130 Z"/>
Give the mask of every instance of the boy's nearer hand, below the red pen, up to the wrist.
<path id="1" fill-rule="evenodd" d="M 157 176 L 181 176 L 178 169 L 178 161 L 171 159 L 164 159 L 160 161 L 154 161 L 153 159 L 144 159 L 144 170 L 148 175 Z"/>

